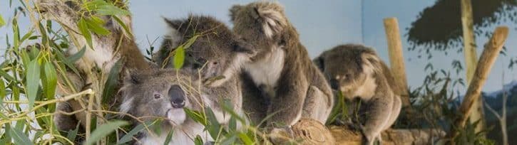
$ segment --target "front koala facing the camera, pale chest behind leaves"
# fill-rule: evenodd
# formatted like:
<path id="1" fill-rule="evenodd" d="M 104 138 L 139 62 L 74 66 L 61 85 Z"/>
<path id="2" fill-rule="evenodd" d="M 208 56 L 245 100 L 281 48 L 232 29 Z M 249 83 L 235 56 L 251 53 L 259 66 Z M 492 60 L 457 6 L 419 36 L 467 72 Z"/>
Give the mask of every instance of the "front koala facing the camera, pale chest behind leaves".
<path id="1" fill-rule="evenodd" d="M 170 131 L 174 131 L 170 144 L 194 144 L 195 136 L 203 141 L 213 141 L 203 129 L 185 114 L 183 108 L 202 110 L 216 98 L 203 98 L 196 90 L 199 81 L 195 75 L 184 71 L 151 70 L 145 73 L 126 75 L 121 87 L 122 104 L 120 112 L 138 117 L 143 122 L 163 118 L 160 134 L 143 131 L 138 134 L 136 144 L 163 144 Z M 213 100 L 210 100 L 213 99 Z M 133 124 L 139 124 L 132 118 Z"/>

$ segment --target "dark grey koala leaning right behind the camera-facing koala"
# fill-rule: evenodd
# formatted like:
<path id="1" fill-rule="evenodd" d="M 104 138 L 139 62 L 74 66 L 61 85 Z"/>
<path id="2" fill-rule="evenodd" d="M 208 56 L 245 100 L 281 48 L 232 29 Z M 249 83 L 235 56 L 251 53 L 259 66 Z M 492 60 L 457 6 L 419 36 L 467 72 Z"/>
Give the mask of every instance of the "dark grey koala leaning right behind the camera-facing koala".
<path id="1" fill-rule="evenodd" d="M 225 90 L 212 94 L 232 97 L 235 100 L 234 105 L 238 106 L 235 108 L 239 108 L 235 111 L 242 111 L 242 101 L 247 100 L 243 96 L 256 95 L 247 91 L 247 87 L 242 87 L 247 83 L 240 78 L 242 64 L 255 55 L 252 46 L 235 36 L 224 23 L 210 16 L 190 15 L 185 19 L 165 19 L 165 22 L 170 27 L 170 32 L 165 36 L 153 60 L 163 68 L 171 68 L 174 61 L 171 53 L 179 45 L 196 37 L 190 47 L 185 49 L 185 63 L 181 70 L 200 75 L 203 85 L 208 86 L 208 91 Z M 214 80 L 215 77 L 222 78 Z M 244 108 L 246 110 L 250 107 Z M 220 109 L 215 108 L 214 111 L 220 112 Z"/>

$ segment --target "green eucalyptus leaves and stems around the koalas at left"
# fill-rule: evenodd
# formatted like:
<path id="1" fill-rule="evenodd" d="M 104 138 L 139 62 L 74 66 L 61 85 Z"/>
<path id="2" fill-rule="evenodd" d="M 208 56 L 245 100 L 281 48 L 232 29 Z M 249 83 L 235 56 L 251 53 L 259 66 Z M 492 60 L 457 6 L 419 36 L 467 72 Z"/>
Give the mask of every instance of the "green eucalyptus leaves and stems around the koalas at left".
<path id="1" fill-rule="evenodd" d="M 86 134 L 80 131 L 79 125 L 71 131 L 56 129 L 56 125 L 53 124 L 53 116 L 57 113 L 55 112 L 56 102 L 94 94 L 90 90 L 79 92 L 80 88 L 73 88 L 68 72 L 80 74 L 73 64 L 81 60 L 86 49 L 94 49 L 93 34 L 106 36 L 111 33 L 103 28 L 106 22 L 100 16 L 114 16 L 130 34 L 130 29 L 116 17 L 129 14 L 120 2 L 94 0 L 86 1 L 81 5 L 81 11 L 78 11 L 78 14 L 81 14 L 78 28 L 88 47 L 81 48 L 75 55 L 66 57 L 64 52 L 73 43 L 68 40 L 68 34 L 63 31 L 64 29 L 53 26 L 55 23 L 51 21 L 36 18 L 38 13 L 31 7 L 26 7 L 26 1 L 19 1 L 22 6 L 14 11 L 15 18 L 10 22 L 13 35 L 6 38 L 7 49 L 4 62 L 0 64 L 0 144 L 75 144 L 76 141 L 85 138 Z M 26 33 L 20 31 L 17 23 L 21 18 L 29 18 L 31 21 L 32 25 Z M 3 26 L 4 20 L 1 16 L 0 22 L 0 26 Z M 194 36 L 187 43 L 180 45 L 180 48 L 175 49 L 175 53 L 171 53 L 170 57 L 173 57 L 175 68 L 182 67 L 185 59 L 184 49 L 189 48 L 197 37 Z M 35 43 L 35 45 L 22 47 L 29 43 Z M 152 52 L 151 46 L 147 53 L 151 55 Z M 93 90 L 102 92 L 102 102 L 107 102 L 106 98 L 116 93 L 120 69 L 121 62 L 118 62 L 108 73 L 106 82 L 103 82 L 101 87 L 103 89 Z M 71 95 L 56 97 L 58 87 L 72 90 Z M 222 107 L 232 116 L 230 123 L 224 125 L 217 122 L 215 114 L 208 107 L 202 110 L 185 109 L 185 112 L 205 126 L 210 136 L 216 139 L 216 144 L 257 144 L 262 141 L 265 135 L 257 127 L 247 125 L 247 119 L 238 116 L 230 109 L 229 104 L 225 103 Z M 127 144 L 134 140 L 133 136 L 140 131 L 160 131 L 160 125 L 156 125 L 161 124 L 160 119 L 131 126 L 126 121 L 111 119 L 114 115 L 120 114 L 119 112 L 98 109 L 86 112 L 94 115 L 91 118 L 91 136 L 89 140 L 83 142 L 85 144 Z M 244 125 L 242 129 L 237 129 L 237 124 Z M 120 134 L 125 135 L 118 138 Z M 172 131 L 168 134 L 165 143 L 171 141 L 173 134 Z M 205 142 L 200 136 L 194 140 L 196 144 Z"/>

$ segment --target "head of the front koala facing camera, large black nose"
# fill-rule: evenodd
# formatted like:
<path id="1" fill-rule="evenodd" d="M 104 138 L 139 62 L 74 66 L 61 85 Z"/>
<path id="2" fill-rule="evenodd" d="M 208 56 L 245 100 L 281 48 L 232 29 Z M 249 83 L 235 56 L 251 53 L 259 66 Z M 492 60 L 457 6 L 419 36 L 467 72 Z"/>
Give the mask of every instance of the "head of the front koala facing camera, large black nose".
<path id="1" fill-rule="evenodd" d="M 200 109 L 202 106 L 193 86 L 195 78 L 176 70 L 150 70 L 146 73 L 128 73 L 121 94 L 120 111 L 142 117 L 143 121 L 163 118 L 164 124 L 178 126 L 187 116 L 183 108 Z"/>

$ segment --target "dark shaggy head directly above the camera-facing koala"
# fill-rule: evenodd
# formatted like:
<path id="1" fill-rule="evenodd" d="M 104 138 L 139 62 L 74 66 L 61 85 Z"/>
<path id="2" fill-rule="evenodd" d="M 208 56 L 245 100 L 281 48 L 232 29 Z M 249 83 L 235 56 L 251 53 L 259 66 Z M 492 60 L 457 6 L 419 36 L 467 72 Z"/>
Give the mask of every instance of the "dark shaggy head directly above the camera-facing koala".
<path id="1" fill-rule="evenodd" d="M 186 19 L 165 19 L 171 31 L 165 37 L 159 55 L 168 55 L 178 45 L 188 43 L 195 37 L 192 45 L 185 48 L 183 68 L 200 70 L 205 85 L 217 87 L 240 71 L 242 64 L 255 55 L 252 45 L 237 37 L 224 23 L 210 16 L 189 16 Z M 167 48 L 163 48 L 167 47 Z M 167 59 L 165 56 L 162 60 Z M 172 59 L 171 59 L 172 60 Z M 219 77 L 218 79 L 213 79 Z"/>

